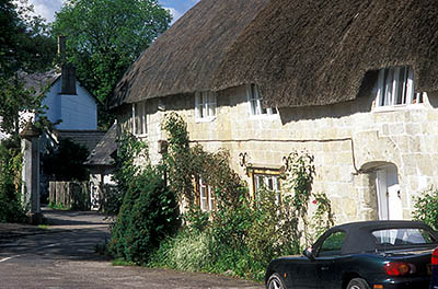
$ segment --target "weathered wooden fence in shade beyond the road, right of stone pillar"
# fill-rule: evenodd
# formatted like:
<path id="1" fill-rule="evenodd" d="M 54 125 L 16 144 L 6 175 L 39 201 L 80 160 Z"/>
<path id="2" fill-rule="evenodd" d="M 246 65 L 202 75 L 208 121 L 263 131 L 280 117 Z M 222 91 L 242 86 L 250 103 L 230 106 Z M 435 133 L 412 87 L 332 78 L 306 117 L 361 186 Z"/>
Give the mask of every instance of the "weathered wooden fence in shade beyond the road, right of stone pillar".
<path id="1" fill-rule="evenodd" d="M 90 210 L 89 183 L 49 182 L 49 203 L 66 209 Z"/>

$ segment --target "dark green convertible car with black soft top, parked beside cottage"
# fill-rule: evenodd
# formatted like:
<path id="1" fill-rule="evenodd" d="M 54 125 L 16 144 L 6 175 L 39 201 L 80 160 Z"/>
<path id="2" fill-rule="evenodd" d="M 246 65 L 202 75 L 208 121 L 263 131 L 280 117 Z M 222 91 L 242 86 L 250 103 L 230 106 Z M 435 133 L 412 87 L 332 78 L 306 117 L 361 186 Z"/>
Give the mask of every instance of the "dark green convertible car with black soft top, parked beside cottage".
<path id="1" fill-rule="evenodd" d="M 438 235 L 417 221 L 366 221 L 334 227 L 303 256 L 274 259 L 268 289 L 427 289 Z"/>

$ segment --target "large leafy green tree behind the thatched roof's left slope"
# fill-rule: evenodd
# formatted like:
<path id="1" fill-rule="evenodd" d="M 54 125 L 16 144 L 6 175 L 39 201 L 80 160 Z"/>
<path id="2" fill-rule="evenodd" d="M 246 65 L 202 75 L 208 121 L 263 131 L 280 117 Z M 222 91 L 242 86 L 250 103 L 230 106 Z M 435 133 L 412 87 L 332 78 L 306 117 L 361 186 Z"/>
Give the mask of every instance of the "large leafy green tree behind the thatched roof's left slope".
<path id="1" fill-rule="evenodd" d="M 67 36 L 67 59 L 79 81 L 102 104 L 126 69 L 171 21 L 157 0 L 67 0 L 56 13 L 53 36 Z M 102 119 L 100 125 L 111 125 Z M 103 122 L 102 122 L 103 120 Z"/>

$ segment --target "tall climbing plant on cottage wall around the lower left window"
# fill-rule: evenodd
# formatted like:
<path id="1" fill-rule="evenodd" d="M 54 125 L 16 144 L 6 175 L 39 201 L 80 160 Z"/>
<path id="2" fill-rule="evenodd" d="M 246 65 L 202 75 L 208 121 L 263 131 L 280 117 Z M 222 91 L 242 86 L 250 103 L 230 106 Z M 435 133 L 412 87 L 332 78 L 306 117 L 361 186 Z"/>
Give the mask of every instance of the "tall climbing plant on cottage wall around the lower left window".
<path id="1" fill-rule="evenodd" d="M 215 187 L 218 210 L 238 206 L 246 190 L 239 175 L 229 166 L 229 153 L 224 150 L 207 152 L 199 144 L 191 148 L 187 125 L 176 113 L 166 115 L 162 127 L 169 135 L 169 151 L 164 155 L 169 183 L 173 190 L 178 192 L 180 199 L 185 199 L 188 208 L 193 207 L 193 181 L 201 177 Z"/>

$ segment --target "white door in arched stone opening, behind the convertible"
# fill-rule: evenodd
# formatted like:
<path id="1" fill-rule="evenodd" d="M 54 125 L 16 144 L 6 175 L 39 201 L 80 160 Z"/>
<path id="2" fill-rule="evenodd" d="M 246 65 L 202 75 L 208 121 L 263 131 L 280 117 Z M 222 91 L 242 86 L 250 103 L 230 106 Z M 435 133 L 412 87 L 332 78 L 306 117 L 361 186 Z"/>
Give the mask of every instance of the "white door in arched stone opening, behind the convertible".
<path id="1" fill-rule="evenodd" d="M 379 167 L 376 174 L 379 220 L 402 220 L 403 206 L 395 165 Z"/>

